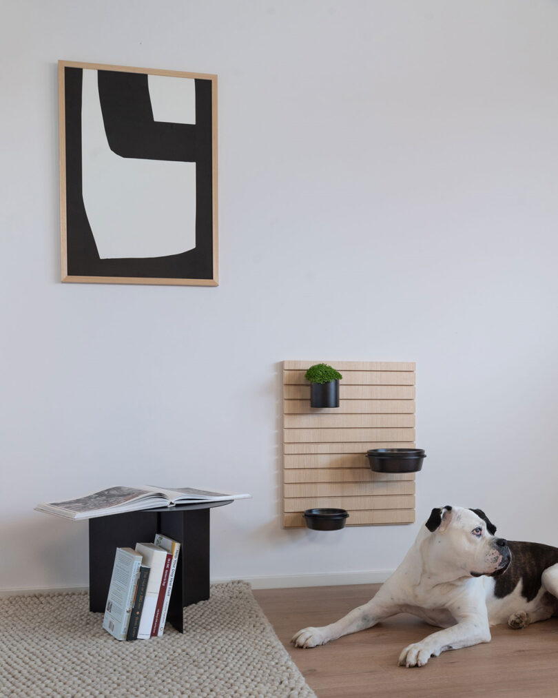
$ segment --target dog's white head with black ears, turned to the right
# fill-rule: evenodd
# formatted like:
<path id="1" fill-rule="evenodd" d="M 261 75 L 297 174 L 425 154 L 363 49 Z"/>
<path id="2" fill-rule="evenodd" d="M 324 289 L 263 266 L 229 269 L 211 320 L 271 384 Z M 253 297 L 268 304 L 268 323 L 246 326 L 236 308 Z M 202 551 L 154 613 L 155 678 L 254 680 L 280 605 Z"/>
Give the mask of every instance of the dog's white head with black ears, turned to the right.
<path id="1" fill-rule="evenodd" d="M 507 541 L 496 537 L 496 526 L 481 509 L 449 505 L 432 509 L 425 527 L 430 532 L 430 556 L 447 570 L 453 566 L 458 574 L 496 577 L 511 562 Z"/>

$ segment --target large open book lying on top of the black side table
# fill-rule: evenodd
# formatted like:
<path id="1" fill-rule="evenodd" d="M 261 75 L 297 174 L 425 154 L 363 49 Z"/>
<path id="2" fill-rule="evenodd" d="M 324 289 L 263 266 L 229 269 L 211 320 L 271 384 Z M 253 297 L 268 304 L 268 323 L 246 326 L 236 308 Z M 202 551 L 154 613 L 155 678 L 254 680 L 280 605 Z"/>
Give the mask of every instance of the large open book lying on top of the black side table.
<path id="1" fill-rule="evenodd" d="M 174 507 L 181 504 L 201 504 L 203 502 L 223 502 L 232 499 L 250 498 L 250 494 L 234 492 L 211 492 L 192 487 L 161 489 L 142 485 L 141 487 L 109 487 L 79 499 L 64 502 L 38 504 L 38 512 L 55 514 L 66 519 L 93 519 L 107 514 L 123 514 L 141 509 L 157 507 Z"/>

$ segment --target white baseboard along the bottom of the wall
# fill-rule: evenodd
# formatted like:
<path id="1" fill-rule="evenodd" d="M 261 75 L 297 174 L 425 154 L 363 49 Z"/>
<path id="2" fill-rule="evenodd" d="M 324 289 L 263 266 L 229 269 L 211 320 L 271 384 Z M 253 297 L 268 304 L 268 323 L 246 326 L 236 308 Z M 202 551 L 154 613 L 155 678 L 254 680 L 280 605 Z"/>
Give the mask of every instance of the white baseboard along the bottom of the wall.
<path id="1" fill-rule="evenodd" d="M 381 584 L 393 570 L 361 570 L 353 572 L 321 572 L 319 574 L 282 574 L 263 577 L 240 577 L 248 581 L 252 589 L 289 589 L 296 586 L 340 586 L 340 584 Z M 239 577 L 214 577 L 213 584 L 232 581 Z M 33 596 L 36 594 L 80 593 L 89 591 L 88 586 L 49 586 L 0 589 L 0 598 L 8 596 Z"/>

